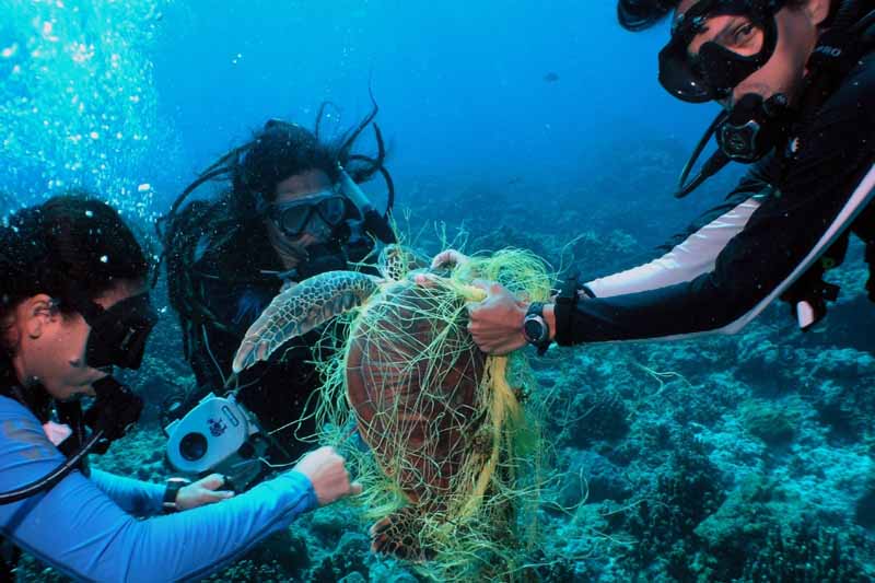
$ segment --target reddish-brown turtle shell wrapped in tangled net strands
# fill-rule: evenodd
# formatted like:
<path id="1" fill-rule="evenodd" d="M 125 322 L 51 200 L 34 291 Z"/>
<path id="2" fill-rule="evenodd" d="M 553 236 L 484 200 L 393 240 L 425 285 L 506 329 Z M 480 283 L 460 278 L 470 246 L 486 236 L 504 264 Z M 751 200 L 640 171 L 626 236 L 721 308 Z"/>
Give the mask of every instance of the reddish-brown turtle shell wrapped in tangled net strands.
<path id="1" fill-rule="evenodd" d="M 466 324 L 462 300 L 402 281 L 374 298 L 352 330 L 347 396 L 359 431 L 417 505 L 452 494 L 481 422 L 486 359 Z"/>

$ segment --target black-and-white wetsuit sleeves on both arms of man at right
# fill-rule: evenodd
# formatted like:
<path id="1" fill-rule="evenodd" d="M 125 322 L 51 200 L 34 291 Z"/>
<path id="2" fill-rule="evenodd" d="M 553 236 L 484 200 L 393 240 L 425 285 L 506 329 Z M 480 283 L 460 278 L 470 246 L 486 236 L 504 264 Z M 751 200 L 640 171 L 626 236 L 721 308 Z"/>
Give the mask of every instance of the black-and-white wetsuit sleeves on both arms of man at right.
<path id="1" fill-rule="evenodd" d="M 783 162 L 771 155 L 756 164 L 665 256 L 588 282 L 595 298 L 568 316 L 557 308 L 557 341 L 734 333 L 793 292 L 806 266 L 847 243 L 849 231 L 875 259 L 875 53 L 863 55 L 794 136 Z M 842 221 L 852 207 L 860 214 Z"/>

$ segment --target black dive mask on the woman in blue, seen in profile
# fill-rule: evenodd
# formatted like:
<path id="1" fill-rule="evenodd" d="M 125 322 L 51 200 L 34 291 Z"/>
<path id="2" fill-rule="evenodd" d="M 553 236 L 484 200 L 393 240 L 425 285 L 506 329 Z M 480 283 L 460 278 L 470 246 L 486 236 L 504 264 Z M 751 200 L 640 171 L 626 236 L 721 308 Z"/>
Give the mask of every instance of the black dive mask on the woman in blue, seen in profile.
<path id="1" fill-rule="evenodd" d="M 139 369 L 145 341 L 158 323 L 148 293 L 132 295 L 108 310 L 91 301 L 78 301 L 75 310 L 91 326 L 85 345 L 85 363 L 92 369 L 121 366 Z"/>

